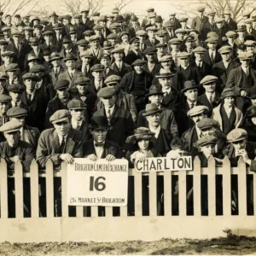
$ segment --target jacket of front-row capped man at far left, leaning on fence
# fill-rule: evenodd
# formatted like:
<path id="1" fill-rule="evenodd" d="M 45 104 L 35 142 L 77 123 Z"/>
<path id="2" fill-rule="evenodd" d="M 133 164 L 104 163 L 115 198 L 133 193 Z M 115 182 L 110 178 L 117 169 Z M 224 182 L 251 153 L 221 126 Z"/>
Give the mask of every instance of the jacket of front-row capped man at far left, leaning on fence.
<path id="1" fill-rule="evenodd" d="M 9 145 L 7 142 L 0 143 L 0 155 L 1 159 L 6 160 L 9 169 L 15 169 L 15 163 L 9 160 L 10 157 L 18 155 L 23 167 L 23 172 L 30 171 L 30 165 L 32 160 L 35 158 L 35 148 L 32 148 L 31 144 L 20 140 L 17 148 L 15 148 L 15 155 L 9 155 Z"/>

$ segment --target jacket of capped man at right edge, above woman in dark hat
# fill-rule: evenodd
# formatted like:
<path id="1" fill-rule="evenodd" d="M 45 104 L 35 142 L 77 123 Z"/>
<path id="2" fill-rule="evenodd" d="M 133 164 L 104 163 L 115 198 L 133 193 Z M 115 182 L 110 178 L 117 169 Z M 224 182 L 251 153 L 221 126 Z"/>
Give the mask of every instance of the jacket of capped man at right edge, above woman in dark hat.
<path id="1" fill-rule="evenodd" d="M 242 69 L 240 67 L 236 67 L 230 71 L 229 77 L 226 82 L 227 88 L 234 88 L 236 96 L 240 96 L 241 88 L 242 88 Z M 253 79 L 253 86 L 256 85 L 256 71 L 253 68 L 249 68 L 249 73 Z"/>

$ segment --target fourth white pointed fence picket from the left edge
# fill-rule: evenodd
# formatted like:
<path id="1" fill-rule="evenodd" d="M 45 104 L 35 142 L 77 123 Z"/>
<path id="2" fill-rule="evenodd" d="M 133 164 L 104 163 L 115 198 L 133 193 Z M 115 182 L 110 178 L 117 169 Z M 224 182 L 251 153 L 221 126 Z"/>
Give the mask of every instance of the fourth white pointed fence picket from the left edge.
<path id="1" fill-rule="evenodd" d="M 54 170 L 53 163 L 48 160 L 45 166 L 46 170 L 46 210 L 47 218 L 53 218 L 55 216 L 55 203 L 54 203 Z"/>

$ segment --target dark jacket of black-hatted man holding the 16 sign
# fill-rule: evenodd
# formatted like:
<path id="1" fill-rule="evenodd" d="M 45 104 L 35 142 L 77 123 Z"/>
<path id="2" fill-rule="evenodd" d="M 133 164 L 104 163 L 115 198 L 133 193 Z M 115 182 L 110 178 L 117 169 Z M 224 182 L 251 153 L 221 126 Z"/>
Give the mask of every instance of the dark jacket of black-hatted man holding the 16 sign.
<path id="1" fill-rule="evenodd" d="M 84 143 L 84 158 L 86 158 L 90 154 L 96 155 L 96 150 L 94 148 L 94 141 L 92 139 Z M 104 144 L 102 159 L 106 158 L 108 154 L 112 154 L 117 159 L 121 159 L 123 156 L 122 150 L 119 144 L 106 140 Z"/>

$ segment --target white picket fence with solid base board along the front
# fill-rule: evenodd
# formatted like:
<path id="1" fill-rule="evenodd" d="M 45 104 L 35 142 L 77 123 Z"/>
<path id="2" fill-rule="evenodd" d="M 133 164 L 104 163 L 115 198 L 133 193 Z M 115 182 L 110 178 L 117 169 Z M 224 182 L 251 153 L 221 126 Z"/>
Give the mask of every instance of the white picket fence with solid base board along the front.
<path id="1" fill-rule="evenodd" d="M 23 173 L 20 162 L 15 165 L 15 218 L 8 218 L 8 172 L 4 160 L 0 163 L 1 193 L 1 241 L 153 241 L 163 237 L 171 238 L 212 238 L 225 236 L 223 230 L 230 229 L 234 234 L 256 235 L 256 218 L 247 215 L 247 174 L 253 175 L 253 207 L 256 212 L 256 173 L 250 172 L 245 163 L 239 160 L 237 167 L 230 167 L 226 157 L 222 167 L 216 167 L 209 160 L 207 168 L 201 168 L 199 159 L 194 161 L 194 171 L 139 173 L 130 169 L 134 177 L 135 216 L 128 216 L 127 207 L 120 208 L 120 216 L 113 217 L 113 208 L 106 207 L 106 216 L 98 216 L 97 207 L 91 207 L 91 217 L 84 217 L 83 207 L 77 207 L 77 217 L 68 217 L 67 206 L 67 165 L 55 172 L 51 161 L 46 172 L 38 172 L 35 160 L 31 172 Z M 216 216 L 216 175 L 223 176 L 223 216 Z M 238 177 L 239 214 L 231 215 L 231 174 Z M 149 176 L 149 216 L 142 212 L 142 180 Z M 164 176 L 164 216 L 157 216 L 157 176 Z M 172 216 L 172 178 L 178 177 L 179 215 Z M 187 216 L 186 176 L 194 180 L 194 215 Z M 208 180 L 208 216 L 201 216 L 201 175 Z M 30 177 L 31 218 L 23 213 L 23 177 Z M 46 178 L 47 218 L 39 217 L 38 177 Z M 54 177 L 61 177 L 62 217 L 54 217 Z M 254 214 L 255 215 L 255 214 Z"/>

